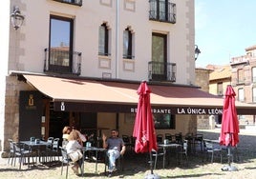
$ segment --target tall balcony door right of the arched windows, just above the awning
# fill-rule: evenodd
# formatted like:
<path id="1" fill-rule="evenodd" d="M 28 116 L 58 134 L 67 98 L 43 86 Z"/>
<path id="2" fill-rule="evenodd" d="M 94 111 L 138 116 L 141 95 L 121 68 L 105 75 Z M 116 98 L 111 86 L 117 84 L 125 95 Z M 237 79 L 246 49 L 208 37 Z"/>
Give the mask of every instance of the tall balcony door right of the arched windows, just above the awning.
<path id="1" fill-rule="evenodd" d="M 152 79 L 167 79 L 167 35 L 152 34 Z"/>

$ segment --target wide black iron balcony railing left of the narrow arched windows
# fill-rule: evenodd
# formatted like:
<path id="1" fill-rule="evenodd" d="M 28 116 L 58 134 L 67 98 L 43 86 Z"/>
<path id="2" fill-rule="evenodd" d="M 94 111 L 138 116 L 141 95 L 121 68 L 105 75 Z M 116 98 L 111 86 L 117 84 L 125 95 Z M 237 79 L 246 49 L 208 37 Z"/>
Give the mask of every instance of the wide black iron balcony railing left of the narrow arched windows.
<path id="1" fill-rule="evenodd" d="M 70 50 L 45 49 L 44 71 L 80 75 L 81 54 Z"/>

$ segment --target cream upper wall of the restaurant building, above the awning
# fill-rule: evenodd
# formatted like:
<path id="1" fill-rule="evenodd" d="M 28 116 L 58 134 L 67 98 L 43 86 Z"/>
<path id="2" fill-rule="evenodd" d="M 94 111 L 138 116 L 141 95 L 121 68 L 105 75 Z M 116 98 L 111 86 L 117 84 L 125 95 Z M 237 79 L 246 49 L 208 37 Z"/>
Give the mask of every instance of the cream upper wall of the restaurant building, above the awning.
<path id="1" fill-rule="evenodd" d="M 108 72 L 112 78 L 147 80 L 152 32 L 161 32 L 168 35 L 168 61 L 177 64 L 176 83 L 194 82 L 194 1 L 173 1 L 177 7 L 177 23 L 170 24 L 148 19 L 148 1 L 119 0 L 117 57 L 117 1 L 83 1 L 82 7 L 52 0 L 20 2 L 25 21 L 18 32 L 11 30 L 11 36 L 19 41 L 11 41 L 11 46 L 18 43 L 20 49 L 16 51 L 19 58 L 10 56 L 10 63 L 18 61 L 18 65 L 13 63 L 10 70 L 43 72 L 44 49 L 49 46 L 50 14 L 55 14 L 75 19 L 74 50 L 82 52 L 81 76 L 102 77 L 102 72 Z M 111 33 L 108 62 L 99 60 L 97 55 L 98 27 L 104 22 Z M 131 27 L 135 37 L 135 59 L 128 62 L 122 59 L 122 32 L 127 27 Z"/>

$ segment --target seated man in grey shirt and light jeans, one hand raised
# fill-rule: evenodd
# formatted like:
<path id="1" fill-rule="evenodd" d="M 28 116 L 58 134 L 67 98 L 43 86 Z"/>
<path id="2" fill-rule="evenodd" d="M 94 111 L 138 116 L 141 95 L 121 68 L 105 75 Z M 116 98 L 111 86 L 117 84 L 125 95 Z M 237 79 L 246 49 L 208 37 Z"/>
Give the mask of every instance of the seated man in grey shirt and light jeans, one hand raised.
<path id="1" fill-rule="evenodd" d="M 117 129 L 111 130 L 111 137 L 107 139 L 106 135 L 103 133 L 103 148 L 108 149 L 107 155 L 109 157 L 109 172 L 111 173 L 116 169 L 116 160 L 120 155 L 125 152 L 124 142 L 118 137 Z"/>

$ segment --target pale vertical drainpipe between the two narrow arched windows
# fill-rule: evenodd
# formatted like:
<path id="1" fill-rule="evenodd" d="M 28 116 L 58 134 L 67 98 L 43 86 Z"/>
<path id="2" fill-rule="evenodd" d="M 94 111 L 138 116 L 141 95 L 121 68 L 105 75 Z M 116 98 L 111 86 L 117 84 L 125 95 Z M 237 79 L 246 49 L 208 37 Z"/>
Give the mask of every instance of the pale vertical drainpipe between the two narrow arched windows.
<path id="1" fill-rule="evenodd" d="M 119 77 L 119 0 L 117 0 L 117 14 L 116 14 L 116 78 Z"/>

